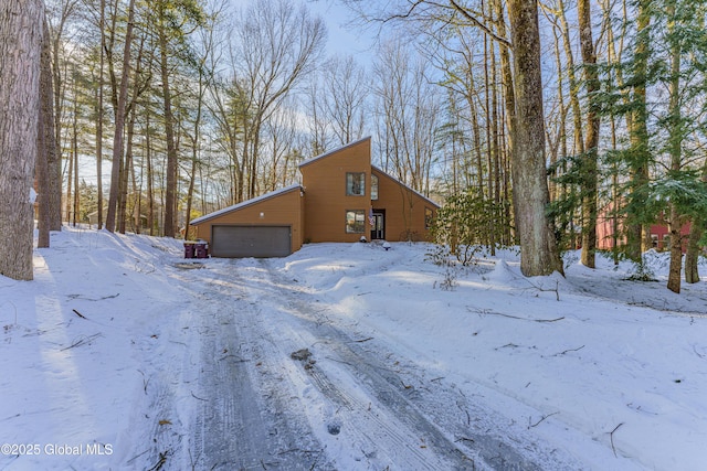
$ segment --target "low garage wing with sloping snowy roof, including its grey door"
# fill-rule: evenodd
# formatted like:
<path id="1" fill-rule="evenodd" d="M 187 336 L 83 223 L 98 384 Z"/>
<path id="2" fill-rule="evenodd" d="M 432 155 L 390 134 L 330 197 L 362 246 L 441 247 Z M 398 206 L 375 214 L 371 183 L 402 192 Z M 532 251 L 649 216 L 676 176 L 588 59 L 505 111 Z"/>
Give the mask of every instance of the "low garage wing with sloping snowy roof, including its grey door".
<path id="1" fill-rule="evenodd" d="M 285 257 L 303 244 L 304 190 L 292 185 L 191 222 L 214 257 Z"/>

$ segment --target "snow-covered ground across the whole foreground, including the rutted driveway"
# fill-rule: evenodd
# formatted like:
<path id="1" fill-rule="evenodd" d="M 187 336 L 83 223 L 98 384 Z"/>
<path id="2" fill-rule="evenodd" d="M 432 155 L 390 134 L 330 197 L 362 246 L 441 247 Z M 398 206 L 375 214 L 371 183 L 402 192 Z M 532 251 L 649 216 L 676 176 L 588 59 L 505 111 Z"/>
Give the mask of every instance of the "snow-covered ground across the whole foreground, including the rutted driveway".
<path id="1" fill-rule="evenodd" d="M 0 277 L 0 469 L 707 469 L 707 283 L 430 251 L 53 233 Z"/>

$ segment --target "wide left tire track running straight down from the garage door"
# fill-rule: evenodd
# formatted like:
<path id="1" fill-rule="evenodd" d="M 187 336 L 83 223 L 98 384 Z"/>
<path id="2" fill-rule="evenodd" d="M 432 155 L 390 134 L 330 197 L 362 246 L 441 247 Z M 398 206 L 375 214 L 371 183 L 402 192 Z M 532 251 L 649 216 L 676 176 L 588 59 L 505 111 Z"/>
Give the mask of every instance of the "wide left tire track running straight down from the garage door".
<path id="1" fill-rule="evenodd" d="M 285 404 L 288 388 L 275 374 L 273 341 L 257 325 L 257 306 L 243 299 L 238 264 L 220 260 L 198 275 L 203 324 L 194 394 L 201 404 L 191 437 L 196 468 L 330 469 L 312 430 Z"/>

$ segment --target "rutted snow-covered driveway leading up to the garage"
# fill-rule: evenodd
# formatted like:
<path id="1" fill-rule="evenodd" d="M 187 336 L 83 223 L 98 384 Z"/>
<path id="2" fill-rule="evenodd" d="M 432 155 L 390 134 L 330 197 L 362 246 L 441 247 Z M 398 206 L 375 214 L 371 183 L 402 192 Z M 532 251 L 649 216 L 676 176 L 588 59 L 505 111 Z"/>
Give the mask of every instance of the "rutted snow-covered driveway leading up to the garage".
<path id="1" fill-rule="evenodd" d="M 461 390 L 337 325 L 275 264 L 211 260 L 187 274 L 203 300 L 197 468 L 544 469 L 518 439 L 475 430 Z"/>

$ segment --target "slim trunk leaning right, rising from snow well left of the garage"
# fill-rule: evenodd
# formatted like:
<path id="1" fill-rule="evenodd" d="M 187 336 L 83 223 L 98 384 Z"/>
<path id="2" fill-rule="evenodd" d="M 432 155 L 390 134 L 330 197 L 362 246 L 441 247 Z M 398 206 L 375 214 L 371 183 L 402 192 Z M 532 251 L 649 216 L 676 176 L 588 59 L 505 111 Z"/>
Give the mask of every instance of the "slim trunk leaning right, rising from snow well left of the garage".
<path id="1" fill-rule="evenodd" d="M 135 20 L 135 0 L 128 6 L 128 28 L 125 33 L 125 49 L 123 50 L 123 75 L 120 77 L 120 93 L 115 111 L 115 135 L 113 137 L 113 169 L 110 170 L 110 196 L 108 197 L 108 214 L 106 229 L 115 232 L 116 210 L 120 185 L 120 161 L 123 160 L 123 130 L 125 128 L 125 108 L 128 95 L 128 78 L 130 76 L 130 46 L 133 44 L 133 26 Z"/>

